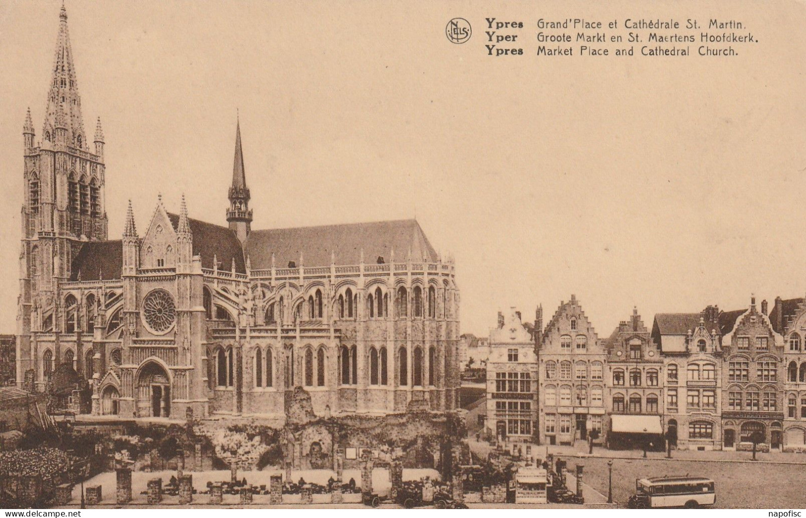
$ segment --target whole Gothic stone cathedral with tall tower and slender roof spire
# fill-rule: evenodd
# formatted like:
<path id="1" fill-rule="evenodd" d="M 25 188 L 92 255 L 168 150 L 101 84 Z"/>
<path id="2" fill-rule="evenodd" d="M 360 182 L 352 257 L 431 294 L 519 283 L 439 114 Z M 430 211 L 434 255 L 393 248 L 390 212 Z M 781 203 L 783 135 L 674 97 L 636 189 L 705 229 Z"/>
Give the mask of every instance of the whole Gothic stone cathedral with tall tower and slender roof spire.
<path id="1" fill-rule="evenodd" d="M 126 418 L 280 417 L 300 388 L 319 416 L 458 407 L 455 267 L 415 220 L 252 230 L 238 125 L 226 226 L 160 198 L 110 240 L 64 6 L 39 137 L 29 110 L 20 386 Z"/>

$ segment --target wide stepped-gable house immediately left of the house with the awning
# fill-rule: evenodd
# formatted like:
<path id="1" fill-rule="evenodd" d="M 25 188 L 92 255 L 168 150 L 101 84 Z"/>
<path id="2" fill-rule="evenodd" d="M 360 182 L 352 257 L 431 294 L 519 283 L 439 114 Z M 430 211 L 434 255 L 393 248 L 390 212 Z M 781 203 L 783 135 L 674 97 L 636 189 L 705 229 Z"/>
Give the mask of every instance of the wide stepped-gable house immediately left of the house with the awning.
<path id="1" fill-rule="evenodd" d="M 605 350 L 576 296 L 562 302 L 538 350 L 541 444 L 587 441 L 602 432 Z"/>

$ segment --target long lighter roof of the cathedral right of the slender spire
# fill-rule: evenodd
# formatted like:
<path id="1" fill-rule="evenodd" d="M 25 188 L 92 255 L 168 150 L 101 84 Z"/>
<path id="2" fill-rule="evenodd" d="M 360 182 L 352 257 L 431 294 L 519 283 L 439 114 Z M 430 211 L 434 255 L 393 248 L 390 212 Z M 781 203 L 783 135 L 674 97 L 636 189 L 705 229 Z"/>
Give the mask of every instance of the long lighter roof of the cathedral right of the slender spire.
<path id="1" fill-rule="evenodd" d="M 405 262 L 409 251 L 413 262 L 437 260 L 434 247 L 413 219 L 252 230 L 245 249 L 254 269 L 271 268 L 272 253 L 278 268 L 291 261 L 300 266 L 300 255 L 303 266 L 330 266 L 331 252 L 336 264 L 359 264 L 362 250 L 368 264 L 376 263 L 379 256 L 391 262 L 393 250 L 398 263 Z"/>

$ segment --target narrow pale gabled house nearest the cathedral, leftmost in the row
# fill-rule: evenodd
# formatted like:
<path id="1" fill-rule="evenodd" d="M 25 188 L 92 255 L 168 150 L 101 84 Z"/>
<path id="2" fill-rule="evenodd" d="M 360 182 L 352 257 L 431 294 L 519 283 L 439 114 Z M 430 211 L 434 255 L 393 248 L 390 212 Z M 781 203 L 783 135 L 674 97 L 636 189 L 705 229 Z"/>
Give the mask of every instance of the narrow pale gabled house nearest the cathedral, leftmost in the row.
<path id="1" fill-rule="evenodd" d="M 521 312 L 499 313 L 489 344 L 487 433 L 499 441 L 531 442 L 538 424 L 538 361 Z"/>

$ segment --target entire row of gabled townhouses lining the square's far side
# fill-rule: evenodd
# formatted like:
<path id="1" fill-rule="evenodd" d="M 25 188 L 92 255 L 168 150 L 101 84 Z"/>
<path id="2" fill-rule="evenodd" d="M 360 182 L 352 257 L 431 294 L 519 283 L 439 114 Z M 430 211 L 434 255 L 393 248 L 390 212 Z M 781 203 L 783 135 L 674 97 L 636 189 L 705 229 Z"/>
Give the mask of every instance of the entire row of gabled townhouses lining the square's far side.
<path id="1" fill-rule="evenodd" d="M 545 327 L 542 307 L 534 324 L 499 313 L 479 424 L 516 447 L 752 450 L 755 439 L 761 451 L 806 453 L 804 300 L 659 313 L 651 327 L 634 309 L 608 338 L 575 296 Z"/>

